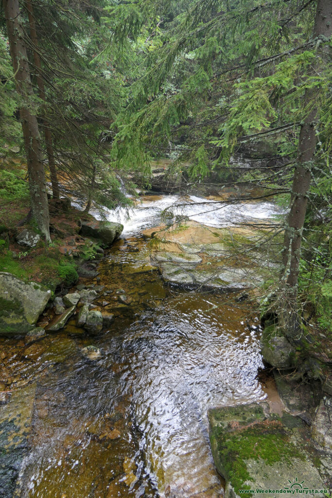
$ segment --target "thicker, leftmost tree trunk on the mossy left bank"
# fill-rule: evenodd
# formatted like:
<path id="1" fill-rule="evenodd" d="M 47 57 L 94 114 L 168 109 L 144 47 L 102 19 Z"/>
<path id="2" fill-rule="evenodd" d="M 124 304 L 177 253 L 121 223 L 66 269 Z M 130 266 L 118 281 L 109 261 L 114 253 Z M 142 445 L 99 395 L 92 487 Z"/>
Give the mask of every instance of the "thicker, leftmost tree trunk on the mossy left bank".
<path id="1" fill-rule="evenodd" d="M 9 49 L 15 72 L 15 85 L 21 96 L 20 118 L 28 165 L 32 216 L 46 242 L 51 242 L 45 172 L 42 162 L 40 134 L 30 97 L 33 95 L 18 0 L 3 0 Z"/>

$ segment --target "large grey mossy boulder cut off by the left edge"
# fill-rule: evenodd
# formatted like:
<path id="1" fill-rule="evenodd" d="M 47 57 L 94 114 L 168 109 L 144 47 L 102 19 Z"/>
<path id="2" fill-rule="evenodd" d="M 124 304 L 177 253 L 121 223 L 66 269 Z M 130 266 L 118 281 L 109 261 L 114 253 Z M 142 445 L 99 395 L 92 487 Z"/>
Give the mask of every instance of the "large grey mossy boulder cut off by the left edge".
<path id="1" fill-rule="evenodd" d="M 51 291 L 0 272 L 0 335 L 24 336 L 32 330 L 51 298 Z"/>

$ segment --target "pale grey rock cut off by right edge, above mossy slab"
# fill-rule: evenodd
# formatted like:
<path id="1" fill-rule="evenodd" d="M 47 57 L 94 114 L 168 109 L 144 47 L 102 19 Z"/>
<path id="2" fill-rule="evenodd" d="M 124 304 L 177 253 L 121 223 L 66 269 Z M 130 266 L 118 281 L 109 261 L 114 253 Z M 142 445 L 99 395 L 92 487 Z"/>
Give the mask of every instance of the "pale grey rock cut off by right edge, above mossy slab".
<path id="1" fill-rule="evenodd" d="M 325 451 L 332 454 L 332 398 L 324 396 L 316 408 L 311 436 Z"/>

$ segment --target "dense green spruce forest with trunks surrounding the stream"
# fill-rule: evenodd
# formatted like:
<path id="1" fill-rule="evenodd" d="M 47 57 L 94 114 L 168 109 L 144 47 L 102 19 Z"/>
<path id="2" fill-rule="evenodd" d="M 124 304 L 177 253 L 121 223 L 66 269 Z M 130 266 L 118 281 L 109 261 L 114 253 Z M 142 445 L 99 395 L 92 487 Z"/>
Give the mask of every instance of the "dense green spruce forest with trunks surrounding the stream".
<path id="1" fill-rule="evenodd" d="M 28 203 L 54 246 L 52 198 L 130 208 L 167 157 L 184 192 L 245 183 L 284 207 L 262 313 L 297 347 L 332 333 L 330 0 L 4 0 L 1 18 L 2 233 Z"/>

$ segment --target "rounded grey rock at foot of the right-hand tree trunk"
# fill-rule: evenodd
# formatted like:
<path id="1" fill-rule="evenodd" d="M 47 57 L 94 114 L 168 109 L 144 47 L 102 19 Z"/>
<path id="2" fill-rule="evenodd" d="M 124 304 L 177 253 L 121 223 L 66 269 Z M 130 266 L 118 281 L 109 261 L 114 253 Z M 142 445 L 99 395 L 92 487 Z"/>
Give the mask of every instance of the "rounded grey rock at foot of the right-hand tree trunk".
<path id="1" fill-rule="evenodd" d="M 293 365 L 295 350 L 286 337 L 274 334 L 274 325 L 263 330 L 260 340 L 262 357 L 272 367 L 289 369 Z"/>

